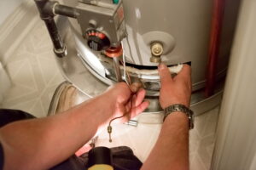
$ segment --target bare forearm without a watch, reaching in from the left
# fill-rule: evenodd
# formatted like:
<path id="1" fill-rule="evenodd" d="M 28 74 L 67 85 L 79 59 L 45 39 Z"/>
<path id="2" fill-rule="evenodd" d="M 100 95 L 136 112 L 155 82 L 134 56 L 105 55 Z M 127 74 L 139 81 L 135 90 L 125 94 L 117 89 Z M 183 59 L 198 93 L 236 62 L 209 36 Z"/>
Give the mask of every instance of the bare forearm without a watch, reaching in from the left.
<path id="1" fill-rule="evenodd" d="M 106 101 L 111 103 L 107 97 L 104 94 L 59 115 L 3 127 L 5 169 L 48 169 L 67 159 L 108 121 L 112 106 L 102 107 Z"/>

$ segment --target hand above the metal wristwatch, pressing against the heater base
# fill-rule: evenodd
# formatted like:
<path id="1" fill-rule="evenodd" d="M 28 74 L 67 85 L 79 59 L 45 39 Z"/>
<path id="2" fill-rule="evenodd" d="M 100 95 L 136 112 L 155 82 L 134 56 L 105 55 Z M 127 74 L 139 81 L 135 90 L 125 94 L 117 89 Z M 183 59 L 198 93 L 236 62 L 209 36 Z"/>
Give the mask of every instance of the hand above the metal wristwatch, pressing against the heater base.
<path id="1" fill-rule="evenodd" d="M 169 105 L 182 104 L 189 107 L 191 97 L 191 69 L 183 65 L 176 77 L 172 78 L 166 65 L 160 64 L 160 105 L 163 109 Z"/>

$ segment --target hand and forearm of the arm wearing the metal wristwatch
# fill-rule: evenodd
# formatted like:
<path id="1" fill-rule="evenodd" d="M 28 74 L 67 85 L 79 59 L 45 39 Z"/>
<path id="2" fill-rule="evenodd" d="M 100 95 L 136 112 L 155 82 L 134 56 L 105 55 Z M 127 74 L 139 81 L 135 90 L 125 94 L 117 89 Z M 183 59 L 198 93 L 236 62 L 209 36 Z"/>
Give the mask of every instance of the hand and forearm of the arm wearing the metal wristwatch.
<path id="1" fill-rule="evenodd" d="M 172 78 L 166 65 L 159 65 L 160 105 L 182 104 L 189 107 L 191 96 L 191 71 L 183 65 L 176 77 Z M 159 138 L 142 170 L 189 169 L 189 119 L 185 114 L 171 114 L 166 117 Z"/>

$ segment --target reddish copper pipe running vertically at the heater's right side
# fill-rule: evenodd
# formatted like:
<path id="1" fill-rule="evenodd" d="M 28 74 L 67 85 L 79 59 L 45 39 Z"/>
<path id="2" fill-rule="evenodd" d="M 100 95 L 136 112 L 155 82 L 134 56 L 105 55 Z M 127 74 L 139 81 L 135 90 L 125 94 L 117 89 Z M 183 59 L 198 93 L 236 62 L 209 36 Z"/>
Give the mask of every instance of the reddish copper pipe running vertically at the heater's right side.
<path id="1" fill-rule="evenodd" d="M 218 48 L 220 43 L 221 28 L 224 19 L 224 0 L 213 0 L 212 27 L 207 64 L 206 97 L 214 93 L 216 70 L 218 65 Z"/>

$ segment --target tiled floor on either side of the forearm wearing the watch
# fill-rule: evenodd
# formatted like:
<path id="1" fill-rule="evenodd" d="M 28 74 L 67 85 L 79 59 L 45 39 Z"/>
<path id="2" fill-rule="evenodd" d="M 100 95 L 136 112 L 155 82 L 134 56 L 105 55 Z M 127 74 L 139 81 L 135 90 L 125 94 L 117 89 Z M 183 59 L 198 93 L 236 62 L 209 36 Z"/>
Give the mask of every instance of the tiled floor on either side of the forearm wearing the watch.
<path id="1" fill-rule="evenodd" d="M 195 117 L 195 128 L 189 132 L 189 160 L 191 170 L 209 169 L 217 120 L 218 108 Z M 138 123 L 137 127 L 115 125 L 113 126 L 113 143 L 108 142 L 108 133 L 106 131 L 99 135 L 96 145 L 108 147 L 117 145 L 130 146 L 136 156 L 144 161 L 156 142 L 160 133 L 160 127 L 160 124 L 147 123 Z"/>

